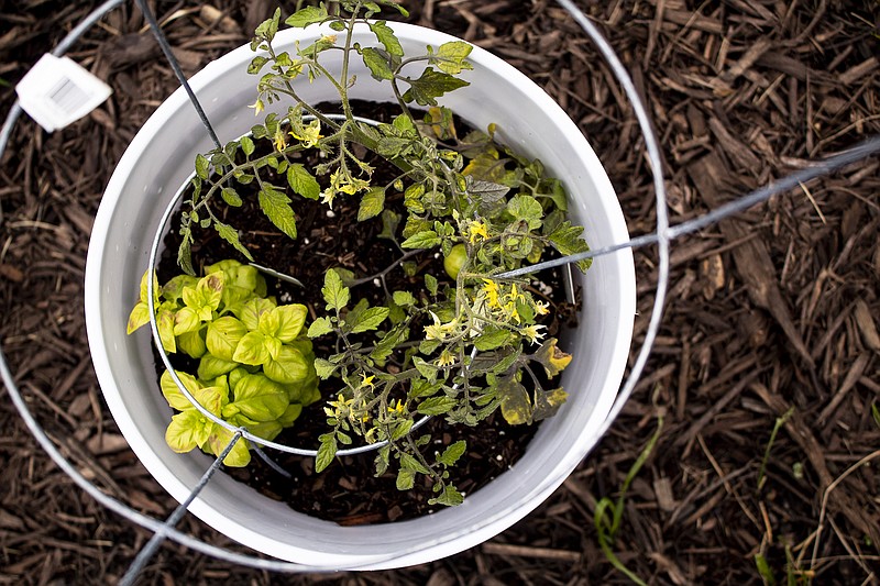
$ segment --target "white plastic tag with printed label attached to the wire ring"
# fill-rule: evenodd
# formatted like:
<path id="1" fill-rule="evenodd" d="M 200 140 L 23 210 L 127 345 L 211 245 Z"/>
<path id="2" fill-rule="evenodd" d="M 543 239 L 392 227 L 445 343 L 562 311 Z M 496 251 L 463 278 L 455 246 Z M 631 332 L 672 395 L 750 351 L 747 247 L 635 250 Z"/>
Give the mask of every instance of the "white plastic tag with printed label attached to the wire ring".
<path id="1" fill-rule="evenodd" d="M 110 86 L 68 57 L 45 54 L 15 86 L 19 103 L 46 132 L 76 122 L 103 103 Z"/>

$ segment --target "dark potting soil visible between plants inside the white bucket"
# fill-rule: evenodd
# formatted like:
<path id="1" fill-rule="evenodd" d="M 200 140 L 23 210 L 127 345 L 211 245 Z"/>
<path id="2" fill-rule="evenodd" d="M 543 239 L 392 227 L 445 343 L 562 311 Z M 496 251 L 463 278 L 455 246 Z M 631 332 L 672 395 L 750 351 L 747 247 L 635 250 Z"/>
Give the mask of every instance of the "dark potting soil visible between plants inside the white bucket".
<path id="1" fill-rule="evenodd" d="M 359 114 L 382 122 L 389 121 L 396 108 L 364 102 L 353 102 L 353 107 Z M 337 110 L 332 104 L 319 104 L 319 108 L 324 112 Z M 257 147 L 261 142 L 257 142 Z M 314 159 L 307 157 L 302 163 L 307 167 L 320 163 L 317 157 L 311 158 Z M 387 163 L 381 159 L 370 163 L 376 167 L 374 180 L 377 185 L 384 185 L 396 176 L 394 168 Z M 270 169 L 264 170 L 270 172 Z M 322 178 L 318 179 L 322 181 Z M 270 177 L 270 180 L 276 186 L 286 185 L 284 177 Z M 305 288 L 299 288 L 266 277 L 270 295 L 275 295 L 282 303 L 305 303 L 311 319 L 319 314 L 319 310 L 323 310 L 324 301 L 320 289 L 328 268 L 344 267 L 361 278 L 380 273 L 399 258 L 400 253 L 391 241 L 377 237 L 382 231 L 382 221 L 378 218 L 365 222 L 356 221 L 355 198 L 350 200 L 338 198 L 333 210 L 330 211 L 324 204 L 288 192 L 293 199 L 292 206 L 296 212 L 298 231 L 298 239 L 292 241 L 265 218 L 258 209 L 255 194 L 254 197 L 248 198 L 241 189 L 239 192 L 244 199 L 241 208 L 226 209 L 218 206 L 216 212 L 220 212 L 224 222 L 239 229 L 242 243 L 258 264 L 296 277 L 306 284 Z M 403 195 L 389 196 L 386 207 L 403 214 Z M 177 217 L 175 214 L 175 220 Z M 164 241 L 165 250 L 158 266 L 161 283 L 180 272 L 176 264 L 178 228 L 179 224 L 175 223 Z M 193 263 L 196 269 L 199 270 L 223 258 L 246 262 L 213 230 L 198 231 L 196 242 L 193 244 Z M 433 252 L 422 252 L 411 261 L 418 264 L 419 272 L 415 277 L 407 277 L 399 266 L 396 267 L 386 276 L 389 290 L 406 289 L 418 297 L 418 292 L 424 288 L 425 273 L 437 277 L 441 281 L 441 287 L 443 281 L 451 283 L 443 269 L 442 258 Z M 548 272 L 541 277 L 542 284 L 540 286 L 535 284 L 535 292 L 544 297 L 551 302 L 551 308 L 556 309 L 550 314 L 553 320 L 546 323 L 548 335 L 552 336 L 562 324 L 568 324 L 573 319 L 574 311 L 564 301 L 560 274 Z M 547 297 L 541 290 L 552 292 Z M 384 289 L 373 283 L 353 288 L 352 296 L 367 297 L 371 306 L 380 305 L 385 299 Z M 415 325 L 413 331 L 418 333 L 420 327 Z M 330 345 L 329 339 L 330 336 L 323 336 L 314 341 L 316 355 L 328 356 L 337 352 Z M 172 358 L 173 362 L 178 361 L 177 367 L 193 366 L 191 362 L 187 365 L 187 360 L 179 355 L 172 355 Z M 162 372 L 158 361 L 157 371 Z M 321 382 L 320 390 L 326 399 L 333 397 L 338 388 L 331 379 Z M 321 400 L 305 408 L 294 425 L 284 430 L 275 441 L 302 449 L 316 449 L 317 436 L 328 429 L 323 406 L 324 402 Z M 550 423 L 552 424 L 552 420 Z M 429 456 L 433 451 L 442 452 L 452 442 L 466 440 L 468 450 L 452 471 L 451 482 L 462 493 L 472 494 L 513 466 L 521 457 L 536 431 L 537 425 L 510 425 L 501 413 L 496 412 L 475 428 L 450 425 L 442 418 L 435 417 L 416 433 L 430 433 L 431 443 L 426 446 Z M 355 442 L 356 440 L 358 438 Z M 251 463 L 245 468 L 224 467 L 224 469 L 233 478 L 270 498 L 287 502 L 297 511 L 340 524 L 396 521 L 426 515 L 438 508 L 428 505 L 428 499 L 435 494 L 426 477 L 420 477 L 422 482 L 417 482 L 416 486 L 407 491 L 397 490 L 394 472 L 375 477 L 375 452 L 337 457 L 320 474 L 315 473 L 312 457 L 274 450 L 268 450 L 267 455 L 290 477 L 274 471 L 256 454 L 253 454 Z"/>

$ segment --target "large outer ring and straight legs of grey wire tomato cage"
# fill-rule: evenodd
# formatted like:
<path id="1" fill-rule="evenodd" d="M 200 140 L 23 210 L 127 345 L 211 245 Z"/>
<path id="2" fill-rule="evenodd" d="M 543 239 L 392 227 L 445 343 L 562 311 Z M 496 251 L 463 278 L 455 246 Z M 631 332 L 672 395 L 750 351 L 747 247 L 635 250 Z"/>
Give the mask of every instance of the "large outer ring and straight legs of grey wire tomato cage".
<path id="1" fill-rule="evenodd" d="M 91 25 L 94 25 L 95 22 L 100 20 L 100 18 L 102 18 L 107 12 L 122 4 L 123 1 L 124 0 L 108 0 L 103 4 L 98 7 L 80 24 L 78 24 L 67 36 L 65 36 L 65 38 L 52 51 L 52 54 L 56 56 L 63 55 L 79 38 L 79 36 L 81 36 L 81 34 L 85 31 L 87 31 Z M 152 13 L 150 12 L 150 9 L 144 0 L 136 0 L 136 1 L 143 10 L 145 19 L 147 20 L 147 22 L 150 22 L 151 27 L 156 34 L 160 44 L 163 45 L 164 35 L 162 34 L 161 29 L 155 22 L 155 18 L 152 16 Z M 859 145 L 857 145 L 851 150 L 848 150 L 831 158 L 816 162 L 816 164 L 812 167 L 799 170 L 787 177 L 783 177 L 782 179 L 778 180 L 772 185 L 757 189 L 740 199 L 737 199 L 730 203 L 727 203 L 708 212 L 703 217 L 696 218 L 694 220 L 674 226 L 670 226 L 669 214 L 666 203 L 666 190 L 663 185 L 664 181 L 662 177 L 662 163 L 660 159 L 659 145 L 656 135 L 653 134 L 653 131 L 651 129 L 647 110 L 644 103 L 641 102 L 641 99 L 639 98 L 638 92 L 636 91 L 635 86 L 632 85 L 632 81 L 630 80 L 623 64 L 617 58 L 617 55 L 615 54 L 614 49 L 610 47 L 607 41 L 605 41 L 605 38 L 595 27 L 595 25 L 593 25 L 593 23 L 574 5 L 574 3 L 571 0 L 557 0 L 557 2 L 563 9 L 565 9 L 569 12 L 569 14 L 571 14 L 574 21 L 584 30 L 584 32 L 596 44 L 603 57 L 608 62 L 612 71 L 614 73 L 618 82 L 624 87 L 624 90 L 632 104 L 636 118 L 638 120 L 639 126 L 642 131 L 646 141 L 646 150 L 648 152 L 651 170 L 653 173 L 653 187 L 654 187 L 654 196 L 657 203 L 657 231 L 652 234 L 638 236 L 627 242 L 622 242 L 619 244 L 606 246 L 601 250 L 595 250 L 588 253 L 570 256 L 561 261 L 553 261 L 549 263 L 534 265 L 531 267 L 524 267 L 524 269 L 519 269 L 518 272 L 510 272 L 506 274 L 506 276 L 515 276 L 522 273 L 530 273 L 543 268 L 549 268 L 550 266 L 557 266 L 561 263 L 572 263 L 579 259 L 602 256 L 604 254 L 608 254 L 627 247 L 635 248 L 649 244 L 656 244 L 658 246 L 659 263 L 658 263 L 657 295 L 654 297 L 651 319 L 648 324 L 648 329 L 646 331 L 645 341 L 641 345 L 641 349 L 639 350 L 636 362 L 632 368 L 630 369 L 630 374 L 627 380 L 625 382 L 624 386 L 622 387 L 606 421 L 604 422 L 601 429 L 597 429 L 594 432 L 595 436 L 601 436 L 610 427 L 614 419 L 617 417 L 620 409 L 623 408 L 624 403 L 631 395 L 636 386 L 636 383 L 638 382 L 638 378 L 645 368 L 645 364 L 647 362 L 648 355 L 650 354 L 651 346 L 657 336 L 660 321 L 662 319 L 662 310 L 664 306 L 666 294 L 669 283 L 670 242 L 684 234 L 692 233 L 702 228 L 711 225 L 724 218 L 738 213 L 739 211 L 743 211 L 756 203 L 766 201 L 773 195 L 789 191 L 790 189 L 799 186 L 802 183 L 821 177 L 823 175 L 827 175 L 857 161 L 861 161 L 864 158 L 880 153 L 880 136 L 873 136 L 860 143 Z M 167 45 L 167 41 L 164 42 L 164 45 Z M 165 47 L 163 47 L 163 51 Z M 169 51 L 166 52 L 166 56 L 168 57 L 172 67 L 175 68 L 175 70 L 179 70 L 179 66 L 175 67 L 176 60 L 174 59 L 174 55 L 170 54 Z M 183 80 L 183 85 L 185 87 L 188 87 L 188 84 L 185 82 L 185 79 Z M 188 91 L 190 93 L 190 97 L 194 97 L 191 90 Z M 197 108 L 197 110 L 200 110 L 200 107 L 197 104 L 197 101 L 194 102 L 194 106 Z M 15 101 L 6 119 L 2 129 L 0 129 L 0 157 L 2 157 L 2 154 L 8 144 L 14 123 L 20 114 L 21 114 L 21 107 L 19 106 L 18 101 Z M 204 121 L 207 122 L 207 119 L 204 118 L 204 113 L 200 115 L 202 117 Z M 218 143 L 216 136 L 212 137 L 215 142 Z M 0 221 L 2 221 L 2 210 L 0 210 Z M 150 297 L 152 299 L 152 295 Z M 7 390 L 10 395 L 10 398 L 15 408 L 18 409 L 19 413 L 21 414 L 28 429 L 34 435 L 34 438 L 37 440 L 41 446 L 45 450 L 45 452 L 50 455 L 50 457 L 58 465 L 58 467 L 61 467 L 62 471 L 65 472 L 82 490 L 89 494 L 98 502 L 100 502 L 108 509 L 121 515 L 125 519 L 154 532 L 153 538 L 147 542 L 147 544 L 142 549 L 142 551 L 135 557 L 134 562 L 130 566 L 125 576 L 123 576 L 120 584 L 132 584 L 136 578 L 138 574 L 140 573 L 140 571 L 143 568 L 143 565 L 150 560 L 155 550 L 165 539 L 172 539 L 195 551 L 224 560 L 230 563 L 241 564 L 244 566 L 258 570 L 267 570 L 267 571 L 283 572 L 283 573 L 304 573 L 304 572 L 315 573 L 315 572 L 333 572 L 339 570 L 356 570 L 356 567 L 330 568 L 330 567 L 321 567 L 321 566 L 305 565 L 305 564 L 294 564 L 276 560 L 264 560 L 255 557 L 253 555 L 241 554 L 234 551 L 210 545 L 186 533 L 180 533 L 175 529 L 177 522 L 179 522 L 179 520 L 185 515 L 187 506 L 195 498 L 197 498 L 201 489 L 205 486 L 207 486 L 211 476 L 215 474 L 217 468 L 219 468 L 219 465 L 222 462 L 223 456 L 234 446 L 235 442 L 240 441 L 240 439 L 243 436 L 246 430 L 235 430 L 232 441 L 227 445 L 223 453 L 221 453 L 221 455 L 218 456 L 218 458 L 213 462 L 213 464 L 206 471 L 202 478 L 191 490 L 189 497 L 185 499 L 185 501 L 180 506 L 178 506 L 175 509 L 175 511 L 163 522 L 153 519 L 151 517 L 144 516 L 133 510 L 129 506 L 124 505 L 123 502 L 106 495 L 94 484 L 87 480 L 76 469 L 76 467 L 61 454 L 58 449 L 48 439 L 46 433 L 41 428 L 40 423 L 35 420 L 35 418 L 29 410 L 21 395 L 21 391 L 19 390 L 19 387 L 15 384 L 14 377 L 9 368 L 9 364 L 6 360 L 6 355 L 3 354 L 1 346 L 0 346 L 0 378 L 2 378 L 3 384 L 6 385 Z M 495 520 L 496 520 L 495 517 L 484 519 L 481 521 L 479 527 L 468 528 L 465 531 L 462 531 L 462 533 L 469 533 L 471 531 L 477 530 L 480 527 L 490 524 Z M 382 559 L 374 559 L 365 563 L 373 565 L 381 562 L 392 561 L 394 559 L 414 553 L 417 550 L 421 550 L 424 548 L 431 548 L 439 543 L 454 540 L 457 537 L 458 535 L 448 535 L 444 539 L 438 539 L 436 540 L 436 542 L 422 545 L 418 549 L 396 552 L 394 555 L 384 556 Z"/>

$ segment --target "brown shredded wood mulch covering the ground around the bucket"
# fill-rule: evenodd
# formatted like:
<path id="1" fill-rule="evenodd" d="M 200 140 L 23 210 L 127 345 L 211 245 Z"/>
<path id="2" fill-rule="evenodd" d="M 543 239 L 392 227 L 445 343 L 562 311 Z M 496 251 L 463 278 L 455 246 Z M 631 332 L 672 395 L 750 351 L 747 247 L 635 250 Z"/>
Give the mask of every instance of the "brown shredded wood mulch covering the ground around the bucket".
<path id="1" fill-rule="evenodd" d="M 631 111 L 552 0 L 406 3 L 421 7 L 415 21 L 497 53 L 556 97 L 606 165 L 630 231 L 652 230 L 650 175 Z M 10 85 L 91 4 L 0 1 L 2 112 Z M 648 98 L 673 223 L 880 133 L 877 2 L 581 4 Z M 221 21 L 189 0 L 155 5 L 191 74 L 243 44 L 275 3 L 216 0 L 231 18 Z M 176 84 L 131 5 L 69 55 L 114 95 L 64 131 L 50 135 L 28 119 L 15 128 L 0 162 L 0 335 L 31 408 L 75 465 L 111 495 L 163 517 L 175 504 L 102 407 L 85 339 L 82 276 L 103 186 Z M 878 194 L 875 157 L 674 243 L 667 314 L 639 390 L 563 487 L 490 542 L 413 568 L 319 577 L 273 576 L 166 544 L 142 583 L 627 583 L 600 549 L 593 511 L 598 499 L 617 496 L 662 417 L 614 543 L 636 575 L 656 584 L 761 583 L 760 554 L 777 581 L 877 584 Z M 638 343 L 657 276 L 653 251 L 636 255 Z M 771 444 L 778 418 L 784 422 Z M 6 391 L 0 430 L 0 583 L 114 583 L 150 533 L 74 486 Z M 191 517 L 183 524 L 227 543 Z"/>

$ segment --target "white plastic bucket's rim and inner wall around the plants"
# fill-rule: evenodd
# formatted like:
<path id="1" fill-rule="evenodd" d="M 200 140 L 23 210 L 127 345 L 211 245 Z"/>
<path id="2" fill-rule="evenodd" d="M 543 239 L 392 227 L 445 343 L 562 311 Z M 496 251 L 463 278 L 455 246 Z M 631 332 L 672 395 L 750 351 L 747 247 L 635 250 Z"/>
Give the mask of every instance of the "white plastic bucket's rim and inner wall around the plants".
<path id="1" fill-rule="evenodd" d="M 394 24 L 407 54 L 425 52 L 452 37 L 421 27 Z M 278 51 L 294 42 L 308 44 L 318 27 L 283 31 Z M 375 42 L 369 31 L 362 44 Z M 336 53 L 336 52 L 333 52 Z M 191 86 L 221 142 L 246 133 L 256 122 L 256 77 L 245 73 L 253 53 L 237 49 L 210 64 Z M 328 54 L 329 55 L 329 54 Z M 586 228 L 593 247 L 626 242 L 628 233 L 616 195 L 598 159 L 578 128 L 540 88 L 501 59 L 475 48 L 471 86 L 441 103 L 472 125 L 499 126 L 498 136 L 518 152 L 540 158 L 552 176 L 563 179 L 573 221 Z M 356 60 L 352 97 L 387 101 L 387 85 L 374 81 Z M 417 76 L 418 71 L 411 75 Z M 327 84 L 302 81 L 298 91 L 309 101 L 333 99 Z M 287 104 L 280 107 L 285 110 Z M 154 226 L 191 173 L 197 153 L 212 147 L 184 90 L 176 91 L 138 133 L 105 192 L 92 231 L 86 270 L 89 344 L 98 378 L 112 414 L 146 468 L 176 499 L 187 497 L 210 464 L 199 453 L 175 454 L 164 441 L 172 414 L 156 387 L 150 335 L 125 335 L 125 321 L 138 299 Z M 579 277 L 580 278 L 580 277 Z M 191 512 L 228 537 L 261 552 L 333 567 L 397 567 L 451 555 L 475 545 L 521 519 L 564 479 L 598 441 L 623 377 L 635 314 L 635 274 L 629 251 L 593 263 L 583 286 L 580 328 L 565 350 L 574 361 L 563 386 L 569 401 L 543 424 L 514 467 L 452 509 L 383 526 L 342 528 L 307 517 L 258 495 L 223 474 L 211 480 Z M 370 456 L 365 456 L 370 457 Z"/>

